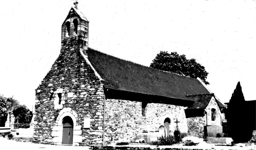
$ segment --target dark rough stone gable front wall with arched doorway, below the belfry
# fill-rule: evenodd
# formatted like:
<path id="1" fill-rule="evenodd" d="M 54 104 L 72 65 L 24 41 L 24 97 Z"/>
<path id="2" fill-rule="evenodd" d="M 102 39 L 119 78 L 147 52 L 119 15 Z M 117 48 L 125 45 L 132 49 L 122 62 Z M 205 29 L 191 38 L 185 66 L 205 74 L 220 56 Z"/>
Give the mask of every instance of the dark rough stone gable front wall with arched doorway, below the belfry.
<path id="1" fill-rule="evenodd" d="M 62 43 L 60 56 L 36 89 L 33 142 L 61 144 L 62 119 L 70 116 L 74 122 L 73 145 L 102 143 L 103 85 L 80 53 L 87 44 L 80 38 Z M 84 128 L 84 117 L 90 117 L 89 128 Z"/>

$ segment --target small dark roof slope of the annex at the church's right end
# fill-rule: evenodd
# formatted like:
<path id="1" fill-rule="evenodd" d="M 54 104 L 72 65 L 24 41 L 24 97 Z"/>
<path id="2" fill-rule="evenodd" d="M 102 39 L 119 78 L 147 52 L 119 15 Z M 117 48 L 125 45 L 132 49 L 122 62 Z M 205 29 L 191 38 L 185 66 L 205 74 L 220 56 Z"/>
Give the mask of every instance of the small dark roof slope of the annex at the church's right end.
<path id="1" fill-rule="evenodd" d="M 214 94 L 198 94 L 198 95 L 186 95 L 186 97 L 190 98 L 194 101 L 193 105 L 189 106 L 187 109 L 205 109 L 209 104 L 212 96 Z"/>

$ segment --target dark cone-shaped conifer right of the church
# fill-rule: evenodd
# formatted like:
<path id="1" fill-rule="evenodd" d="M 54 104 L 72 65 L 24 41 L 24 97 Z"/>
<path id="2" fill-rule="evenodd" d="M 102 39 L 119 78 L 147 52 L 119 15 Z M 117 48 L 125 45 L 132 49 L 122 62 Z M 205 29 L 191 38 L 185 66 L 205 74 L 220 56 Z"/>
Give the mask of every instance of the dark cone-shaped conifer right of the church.
<path id="1" fill-rule="evenodd" d="M 248 142 L 252 138 L 252 130 L 247 118 L 244 94 L 240 82 L 237 83 L 227 108 L 228 136 L 235 143 Z"/>

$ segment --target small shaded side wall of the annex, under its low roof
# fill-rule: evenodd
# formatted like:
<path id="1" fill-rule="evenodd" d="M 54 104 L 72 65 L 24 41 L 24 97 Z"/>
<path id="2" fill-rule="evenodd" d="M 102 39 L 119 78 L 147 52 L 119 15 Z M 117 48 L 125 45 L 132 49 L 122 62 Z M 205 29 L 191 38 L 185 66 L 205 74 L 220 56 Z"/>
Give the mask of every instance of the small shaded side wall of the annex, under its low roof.
<path id="1" fill-rule="evenodd" d="M 203 117 L 187 118 L 188 134 L 203 138 L 204 126 L 206 125 L 206 115 Z"/>

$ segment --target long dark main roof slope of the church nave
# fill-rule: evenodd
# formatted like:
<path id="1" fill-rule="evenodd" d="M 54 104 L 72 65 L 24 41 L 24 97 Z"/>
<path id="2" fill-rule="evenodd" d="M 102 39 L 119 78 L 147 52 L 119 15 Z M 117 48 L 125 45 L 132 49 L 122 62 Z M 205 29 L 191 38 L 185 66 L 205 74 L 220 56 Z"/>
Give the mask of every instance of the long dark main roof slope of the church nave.
<path id="1" fill-rule="evenodd" d="M 87 54 L 107 88 L 185 100 L 189 100 L 185 95 L 209 94 L 197 79 L 135 64 L 90 48 Z"/>

